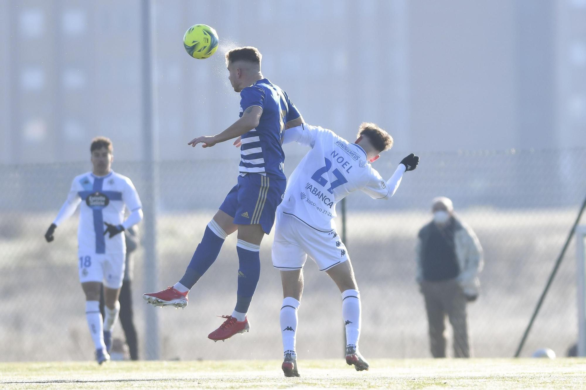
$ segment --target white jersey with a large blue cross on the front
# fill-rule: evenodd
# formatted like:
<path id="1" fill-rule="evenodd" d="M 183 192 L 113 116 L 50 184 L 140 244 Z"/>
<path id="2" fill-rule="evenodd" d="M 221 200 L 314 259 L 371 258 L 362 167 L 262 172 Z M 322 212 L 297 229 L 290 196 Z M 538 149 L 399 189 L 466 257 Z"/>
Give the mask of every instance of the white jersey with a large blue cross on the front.
<path id="1" fill-rule="evenodd" d="M 108 235 L 104 235 L 106 228 L 104 223 L 123 225 L 124 228 L 128 228 L 130 226 L 123 223 L 124 206 L 131 212 L 142 208 L 141 200 L 131 180 L 113 171 L 106 176 L 96 176 L 91 172 L 76 176 L 71 183 L 67 200 L 53 223 L 56 225 L 62 223 L 73 214 L 80 203 L 77 229 L 79 252 L 124 254 L 126 252 L 124 234 L 109 238 Z"/>

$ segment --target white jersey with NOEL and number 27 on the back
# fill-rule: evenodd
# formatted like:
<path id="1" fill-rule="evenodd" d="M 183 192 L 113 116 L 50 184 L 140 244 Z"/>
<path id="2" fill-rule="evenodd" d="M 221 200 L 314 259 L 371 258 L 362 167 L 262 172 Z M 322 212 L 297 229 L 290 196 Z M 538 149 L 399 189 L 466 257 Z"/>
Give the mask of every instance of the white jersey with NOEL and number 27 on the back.
<path id="1" fill-rule="evenodd" d="M 392 196 L 404 172 L 400 165 L 396 183 L 387 185 L 367 162 L 364 149 L 328 129 L 303 124 L 288 129 L 285 136 L 284 142 L 297 141 L 312 149 L 289 177 L 278 211 L 319 231 L 335 229 L 336 204 L 347 194 L 361 190 L 374 199 Z"/>

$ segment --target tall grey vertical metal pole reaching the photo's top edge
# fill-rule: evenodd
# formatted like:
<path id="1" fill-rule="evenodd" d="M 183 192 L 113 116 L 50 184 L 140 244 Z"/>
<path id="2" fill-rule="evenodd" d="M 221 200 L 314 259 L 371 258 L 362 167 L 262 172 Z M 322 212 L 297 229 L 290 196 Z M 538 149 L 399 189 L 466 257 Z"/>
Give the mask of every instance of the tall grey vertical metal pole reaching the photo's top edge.
<path id="1" fill-rule="evenodd" d="M 154 115 L 154 85 L 152 77 L 152 48 L 151 35 L 151 1 L 142 0 L 142 130 L 144 164 L 144 191 L 142 191 L 144 211 L 144 248 L 145 248 L 145 291 L 158 286 L 158 267 L 156 261 L 156 204 L 158 201 L 158 132 L 156 131 Z M 161 357 L 161 343 L 159 340 L 158 312 L 154 307 L 147 307 L 145 334 L 147 337 L 146 358 L 158 360 Z"/>

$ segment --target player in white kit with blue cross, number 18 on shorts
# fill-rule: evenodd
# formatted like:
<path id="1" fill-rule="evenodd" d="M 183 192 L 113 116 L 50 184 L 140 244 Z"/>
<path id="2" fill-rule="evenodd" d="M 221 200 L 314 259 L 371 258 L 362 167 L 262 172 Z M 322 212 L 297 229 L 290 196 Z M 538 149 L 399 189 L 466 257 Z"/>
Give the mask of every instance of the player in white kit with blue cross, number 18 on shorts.
<path id="1" fill-rule="evenodd" d="M 57 226 L 80 207 L 78 239 L 79 279 L 86 295 L 86 319 L 96 345 L 99 364 L 110 359 L 111 331 L 120 312 L 118 295 L 124 278 L 126 245 L 120 234 L 142 220 L 137 190 L 126 176 L 111 170 L 112 142 L 94 138 L 90 146 L 93 171 L 76 176 L 67 200 L 45 234 L 54 240 Z M 130 215 L 124 220 L 124 208 Z M 100 313 L 100 288 L 104 285 L 105 317 Z"/>

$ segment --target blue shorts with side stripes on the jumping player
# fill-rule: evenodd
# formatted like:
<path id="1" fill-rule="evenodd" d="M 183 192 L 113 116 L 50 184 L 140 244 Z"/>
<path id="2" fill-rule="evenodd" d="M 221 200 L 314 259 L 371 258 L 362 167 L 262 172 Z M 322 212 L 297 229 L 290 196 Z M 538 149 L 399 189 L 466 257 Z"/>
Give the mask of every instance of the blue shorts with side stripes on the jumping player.
<path id="1" fill-rule="evenodd" d="M 248 173 L 238 177 L 220 210 L 234 217 L 236 225 L 260 224 L 269 234 L 275 223 L 275 210 L 285 194 L 287 180 Z"/>

